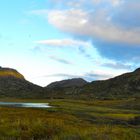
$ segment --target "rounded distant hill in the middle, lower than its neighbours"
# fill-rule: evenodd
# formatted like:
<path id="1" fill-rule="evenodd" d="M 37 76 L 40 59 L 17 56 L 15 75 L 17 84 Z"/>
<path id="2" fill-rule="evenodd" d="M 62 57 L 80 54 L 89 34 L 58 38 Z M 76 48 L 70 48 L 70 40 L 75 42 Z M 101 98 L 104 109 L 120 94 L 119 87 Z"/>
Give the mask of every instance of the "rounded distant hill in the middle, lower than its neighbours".
<path id="1" fill-rule="evenodd" d="M 82 78 L 62 80 L 53 82 L 45 87 L 45 92 L 49 98 L 75 98 L 77 90 L 86 84 L 88 82 Z"/>

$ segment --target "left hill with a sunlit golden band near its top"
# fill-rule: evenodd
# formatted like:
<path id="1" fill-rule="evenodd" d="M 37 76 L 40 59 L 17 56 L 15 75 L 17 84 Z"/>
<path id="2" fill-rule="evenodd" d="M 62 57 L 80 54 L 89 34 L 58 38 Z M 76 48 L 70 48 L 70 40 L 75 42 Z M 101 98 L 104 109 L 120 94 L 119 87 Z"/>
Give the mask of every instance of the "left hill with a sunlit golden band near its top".
<path id="1" fill-rule="evenodd" d="M 39 97 L 43 89 L 27 80 L 18 71 L 0 67 L 0 97 Z"/>

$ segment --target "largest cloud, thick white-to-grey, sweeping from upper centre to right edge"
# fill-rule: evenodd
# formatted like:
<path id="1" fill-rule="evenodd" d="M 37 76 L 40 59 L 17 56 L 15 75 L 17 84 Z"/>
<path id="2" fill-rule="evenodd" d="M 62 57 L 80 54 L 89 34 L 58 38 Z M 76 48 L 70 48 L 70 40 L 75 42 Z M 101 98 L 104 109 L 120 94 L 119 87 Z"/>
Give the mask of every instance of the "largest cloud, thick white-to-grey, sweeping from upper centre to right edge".
<path id="1" fill-rule="evenodd" d="M 88 13 L 84 10 L 52 10 L 49 23 L 76 35 L 99 38 L 109 42 L 140 44 L 140 28 L 125 29 L 108 21 L 104 11 Z"/>

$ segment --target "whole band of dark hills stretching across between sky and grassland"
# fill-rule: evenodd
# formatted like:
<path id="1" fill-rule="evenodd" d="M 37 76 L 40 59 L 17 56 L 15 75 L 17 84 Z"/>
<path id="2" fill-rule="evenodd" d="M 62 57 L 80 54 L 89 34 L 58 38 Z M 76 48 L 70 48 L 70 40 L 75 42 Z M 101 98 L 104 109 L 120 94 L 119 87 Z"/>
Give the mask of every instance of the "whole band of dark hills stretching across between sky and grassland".
<path id="1" fill-rule="evenodd" d="M 43 88 L 27 81 L 17 70 L 0 67 L 0 97 L 42 99 L 139 98 L 140 68 L 108 80 L 89 83 L 82 78 L 74 78 L 53 82 Z"/>

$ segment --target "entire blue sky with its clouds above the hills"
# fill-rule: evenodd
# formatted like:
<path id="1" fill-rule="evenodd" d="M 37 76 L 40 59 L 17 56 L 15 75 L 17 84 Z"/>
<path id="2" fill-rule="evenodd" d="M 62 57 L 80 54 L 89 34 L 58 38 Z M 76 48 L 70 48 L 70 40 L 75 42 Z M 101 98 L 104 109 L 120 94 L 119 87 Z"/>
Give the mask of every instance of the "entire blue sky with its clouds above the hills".
<path id="1" fill-rule="evenodd" d="M 0 0 L 0 66 L 35 84 L 140 67 L 139 0 Z"/>

